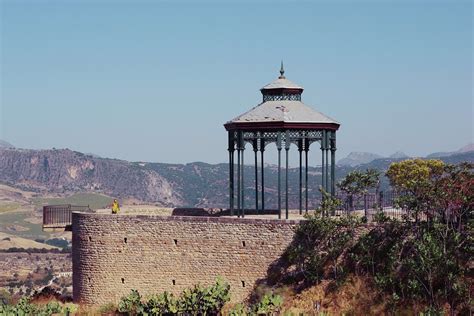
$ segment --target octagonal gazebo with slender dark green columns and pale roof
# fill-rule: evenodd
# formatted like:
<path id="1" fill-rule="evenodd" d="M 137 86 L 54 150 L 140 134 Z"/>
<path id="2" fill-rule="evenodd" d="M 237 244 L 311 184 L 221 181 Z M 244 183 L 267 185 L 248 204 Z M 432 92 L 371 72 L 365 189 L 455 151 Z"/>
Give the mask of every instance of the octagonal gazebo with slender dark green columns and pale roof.
<path id="1" fill-rule="evenodd" d="M 230 214 L 235 213 L 237 197 L 237 215 L 245 215 L 244 199 L 244 150 L 249 143 L 255 153 L 255 209 L 265 211 L 265 146 L 276 143 L 278 151 L 278 218 L 282 217 L 281 192 L 281 151 L 285 150 L 285 218 L 288 219 L 288 152 L 291 144 L 299 151 L 299 213 L 303 204 L 308 211 L 308 151 L 315 142 L 320 144 L 322 157 L 322 187 L 332 195 L 335 193 L 336 131 L 340 124 L 332 118 L 318 112 L 301 101 L 303 87 L 286 79 L 281 63 L 280 76 L 272 83 L 260 89 L 263 101 L 250 111 L 237 116 L 224 124 L 229 136 L 229 207 Z M 237 151 L 237 168 L 234 155 Z M 258 152 L 260 151 L 261 190 L 258 188 Z M 331 157 L 329 158 L 329 151 Z M 303 203 L 303 152 L 304 152 L 304 192 Z M 331 162 L 329 165 L 329 161 Z M 237 169 L 237 174 L 235 174 Z M 237 191 L 235 190 L 237 180 Z M 259 207 L 259 195 L 261 203 Z"/>

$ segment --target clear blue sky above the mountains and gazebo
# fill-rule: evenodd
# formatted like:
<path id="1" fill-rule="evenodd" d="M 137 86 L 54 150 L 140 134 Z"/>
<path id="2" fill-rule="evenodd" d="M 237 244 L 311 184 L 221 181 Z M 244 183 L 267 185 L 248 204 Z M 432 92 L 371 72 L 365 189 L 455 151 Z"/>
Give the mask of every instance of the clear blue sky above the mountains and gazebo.
<path id="1" fill-rule="evenodd" d="M 473 141 L 470 1 L 0 3 L 0 139 L 17 147 L 225 162 L 222 124 L 281 59 L 341 122 L 338 159 Z"/>

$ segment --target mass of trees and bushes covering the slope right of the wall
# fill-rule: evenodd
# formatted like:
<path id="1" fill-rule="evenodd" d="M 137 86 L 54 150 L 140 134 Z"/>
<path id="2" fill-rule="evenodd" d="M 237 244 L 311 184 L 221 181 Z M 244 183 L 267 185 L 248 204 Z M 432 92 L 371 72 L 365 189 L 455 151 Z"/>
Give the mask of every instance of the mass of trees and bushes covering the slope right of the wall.
<path id="1" fill-rule="evenodd" d="M 375 292 L 370 305 L 338 312 L 368 313 L 372 305 L 383 305 L 378 313 L 469 314 L 474 303 L 472 169 L 437 160 L 392 164 L 387 176 L 401 193 L 398 206 L 410 210 L 402 221 L 382 212 L 375 216 L 375 226 L 350 216 L 325 217 L 339 203 L 327 196 L 319 213 L 298 227 L 292 244 L 270 269 L 268 284 L 289 286 L 295 297 L 323 284 L 322 301 L 347 289 L 348 282 L 363 280 Z"/>

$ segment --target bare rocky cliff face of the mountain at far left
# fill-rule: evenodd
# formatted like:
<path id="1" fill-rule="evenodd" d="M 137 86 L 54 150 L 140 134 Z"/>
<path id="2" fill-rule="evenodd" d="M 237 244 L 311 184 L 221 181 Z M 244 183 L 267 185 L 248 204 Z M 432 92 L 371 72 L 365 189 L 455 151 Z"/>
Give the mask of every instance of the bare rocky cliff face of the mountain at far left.
<path id="1" fill-rule="evenodd" d="M 182 203 L 170 183 L 153 170 L 68 149 L 0 149 L 0 181 L 40 192 L 96 191 L 163 205 Z"/>

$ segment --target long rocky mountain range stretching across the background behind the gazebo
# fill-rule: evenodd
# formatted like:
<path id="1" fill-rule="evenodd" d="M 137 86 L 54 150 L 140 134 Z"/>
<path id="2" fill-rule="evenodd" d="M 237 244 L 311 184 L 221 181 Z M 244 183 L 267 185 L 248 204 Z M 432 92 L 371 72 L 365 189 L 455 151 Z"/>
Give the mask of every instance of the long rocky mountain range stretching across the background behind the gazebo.
<path id="1" fill-rule="evenodd" d="M 379 156 L 378 156 L 379 157 Z M 355 169 L 375 168 L 387 170 L 390 163 L 404 159 L 377 158 L 357 166 L 338 165 L 339 180 Z M 369 157 L 370 158 L 370 157 Z M 474 162 L 474 151 L 455 152 L 440 157 L 449 163 Z M 245 166 L 246 205 L 255 205 L 254 167 Z M 278 170 L 265 167 L 265 205 L 276 208 Z M 316 206 L 320 196 L 321 169 L 311 167 L 309 174 L 310 207 Z M 284 173 L 282 176 L 284 181 Z M 289 170 L 289 204 L 299 205 L 299 169 Z M 227 207 L 228 165 L 194 162 L 165 164 L 128 162 L 100 158 L 69 149 L 28 150 L 0 148 L 0 183 L 20 189 L 67 195 L 77 192 L 103 193 L 132 202 L 155 203 L 169 207 Z M 284 183 L 284 182 L 283 182 Z M 382 189 L 388 187 L 383 179 Z"/>

